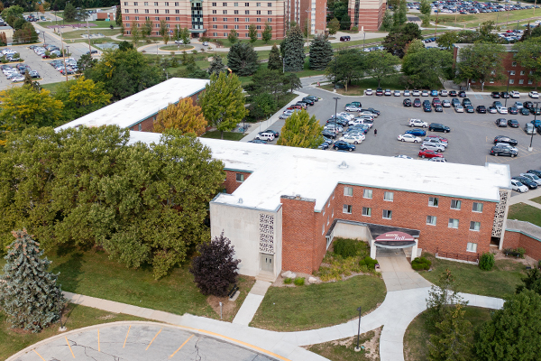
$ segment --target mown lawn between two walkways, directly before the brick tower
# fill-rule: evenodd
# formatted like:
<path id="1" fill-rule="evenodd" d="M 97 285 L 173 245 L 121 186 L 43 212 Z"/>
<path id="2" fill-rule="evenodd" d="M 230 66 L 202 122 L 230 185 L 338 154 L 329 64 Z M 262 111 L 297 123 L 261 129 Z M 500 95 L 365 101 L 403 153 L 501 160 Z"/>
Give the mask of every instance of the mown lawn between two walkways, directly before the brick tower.
<path id="1" fill-rule="evenodd" d="M 381 278 L 361 275 L 346 281 L 300 287 L 271 287 L 250 326 L 275 331 L 338 325 L 376 308 L 385 299 Z"/>

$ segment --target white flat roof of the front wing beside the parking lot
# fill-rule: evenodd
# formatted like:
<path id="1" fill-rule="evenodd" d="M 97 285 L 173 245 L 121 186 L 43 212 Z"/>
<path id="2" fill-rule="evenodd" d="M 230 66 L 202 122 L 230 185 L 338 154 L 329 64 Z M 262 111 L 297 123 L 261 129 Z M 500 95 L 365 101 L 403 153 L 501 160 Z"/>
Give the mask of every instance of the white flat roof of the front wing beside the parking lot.
<path id="1" fill-rule="evenodd" d="M 157 143 L 160 134 L 130 132 L 130 143 Z M 403 190 L 465 199 L 500 201 L 508 189 L 509 166 L 426 162 L 381 155 L 326 152 L 318 149 L 241 143 L 199 138 L 225 169 L 252 174 L 233 194 L 220 194 L 217 203 L 274 210 L 280 196 L 315 199 L 320 211 L 337 183 Z M 346 168 L 340 164 L 345 162 Z M 239 199 L 243 199 L 239 203 Z"/>

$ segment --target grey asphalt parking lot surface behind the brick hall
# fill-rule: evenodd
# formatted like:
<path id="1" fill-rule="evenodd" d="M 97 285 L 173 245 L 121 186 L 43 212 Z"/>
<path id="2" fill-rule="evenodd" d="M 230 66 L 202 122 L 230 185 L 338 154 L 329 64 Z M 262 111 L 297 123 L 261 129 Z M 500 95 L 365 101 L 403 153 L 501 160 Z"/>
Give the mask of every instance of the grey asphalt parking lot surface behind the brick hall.
<path id="1" fill-rule="evenodd" d="M 403 143 L 397 140 L 399 134 L 404 134 L 405 131 L 411 129 L 408 126 L 410 118 L 421 119 L 428 124 L 441 123 L 451 128 L 451 133 L 428 132 L 427 134 L 440 134 L 449 140 L 449 146 L 443 155 L 447 162 L 459 162 L 465 164 L 484 165 L 486 162 L 508 164 L 512 176 L 518 175 L 520 172 L 528 169 L 541 168 L 541 136 L 535 134 L 533 137 L 533 152 L 528 152 L 527 147 L 530 143 L 531 135 L 526 134 L 522 127 L 527 122 L 534 119 L 534 116 L 511 116 L 500 114 L 468 114 L 455 113 L 453 107 L 445 107 L 443 113 L 425 113 L 422 108 L 404 107 L 402 100 L 405 97 L 344 97 L 340 95 L 321 90 L 319 88 L 305 87 L 299 89 L 303 93 L 307 93 L 321 99 L 314 106 L 308 106 L 308 113 L 316 115 L 322 125 L 326 124 L 326 120 L 335 114 L 335 100 L 333 97 L 340 97 L 338 100 L 338 112 L 344 111 L 346 103 L 352 101 L 360 101 L 362 107 L 373 107 L 381 111 L 381 116 L 374 120 L 374 126 L 366 134 L 366 139 L 356 145 L 354 153 L 376 154 L 395 156 L 399 154 L 408 155 L 414 159 L 418 157 L 420 145 L 417 143 Z M 491 106 L 493 99 L 486 95 L 473 95 L 468 93 L 468 97 L 472 100 L 472 106 L 479 105 Z M 413 100 L 414 97 L 409 97 Z M 419 97 L 422 100 L 432 97 Z M 440 97 L 440 99 L 451 99 L 452 97 Z M 462 100 L 462 98 L 461 98 Z M 505 100 L 505 99 L 498 99 Z M 524 95 L 520 99 L 508 99 L 508 106 L 512 105 L 516 100 L 526 101 L 532 100 Z M 536 99 L 534 99 L 536 100 Z M 503 103 L 503 102 L 502 102 Z M 497 118 L 517 119 L 520 123 L 519 128 L 499 128 L 494 122 Z M 280 132 L 284 120 L 280 120 L 271 125 L 269 129 Z M 373 130 L 378 130 L 378 135 L 374 136 Z M 493 145 L 493 139 L 496 135 L 508 135 L 511 138 L 518 140 L 518 156 L 510 157 L 495 157 L 491 156 L 490 150 Z M 276 143 L 276 141 L 272 142 Z M 329 149 L 322 152 L 336 152 Z M 405 160 L 408 162 L 407 160 Z M 427 162 L 426 160 L 420 162 Z M 413 163 L 412 163 L 413 164 Z"/>

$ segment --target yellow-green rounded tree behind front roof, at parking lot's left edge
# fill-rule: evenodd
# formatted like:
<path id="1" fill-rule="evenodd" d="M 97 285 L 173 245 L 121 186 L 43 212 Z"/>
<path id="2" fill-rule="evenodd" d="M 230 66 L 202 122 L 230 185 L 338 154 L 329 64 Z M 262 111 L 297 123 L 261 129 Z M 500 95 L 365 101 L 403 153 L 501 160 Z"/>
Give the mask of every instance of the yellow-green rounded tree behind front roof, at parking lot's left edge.
<path id="1" fill-rule="evenodd" d="M 293 113 L 282 126 L 278 145 L 315 149 L 323 143 L 323 126 L 306 110 Z"/>

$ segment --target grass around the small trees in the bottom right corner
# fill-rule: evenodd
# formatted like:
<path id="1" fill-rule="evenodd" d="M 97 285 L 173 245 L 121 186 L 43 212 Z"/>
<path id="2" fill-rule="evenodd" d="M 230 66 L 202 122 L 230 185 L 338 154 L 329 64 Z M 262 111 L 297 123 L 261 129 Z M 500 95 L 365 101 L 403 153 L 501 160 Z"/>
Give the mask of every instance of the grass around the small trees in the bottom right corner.
<path id="1" fill-rule="evenodd" d="M 481 326 L 485 321 L 491 319 L 490 309 L 481 309 L 479 307 L 466 307 L 464 309 L 464 319 L 472 322 L 472 329 Z M 406 361 L 427 361 L 428 347 L 426 343 L 430 339 L 430 335 L 435 332 L 428 326 L 426 321 L 426 311 L 417 315 L 406 329 L 404 335 L 404 358 Z M 473 338 L 471 339 L 473 341 Z"/>

